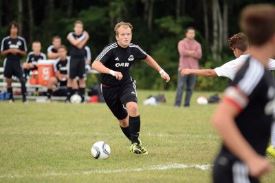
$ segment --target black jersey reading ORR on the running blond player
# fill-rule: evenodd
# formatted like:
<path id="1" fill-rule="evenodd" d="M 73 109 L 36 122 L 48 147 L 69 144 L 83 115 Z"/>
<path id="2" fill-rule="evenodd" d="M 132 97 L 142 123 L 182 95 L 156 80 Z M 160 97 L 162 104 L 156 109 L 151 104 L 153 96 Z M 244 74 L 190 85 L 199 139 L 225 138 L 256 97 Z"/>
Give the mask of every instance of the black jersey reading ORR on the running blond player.
<path id="1" fill-rule="evenodd" d="M 104 47 L 102 52 L 96 57 L 96 61 L 100 61 L 105 67 L 116 72 L 122 73 L 122 80 L 117 80 L 111 74 L 101 74 L 101 83 L 107 86 L 117 86 L 129 80 L 129 69 L 133 61 L 147 58 L 144 52 L 138 45 L 130 43 L 126 48 L 120 47 L 118 43 L 111 43 Z"/>

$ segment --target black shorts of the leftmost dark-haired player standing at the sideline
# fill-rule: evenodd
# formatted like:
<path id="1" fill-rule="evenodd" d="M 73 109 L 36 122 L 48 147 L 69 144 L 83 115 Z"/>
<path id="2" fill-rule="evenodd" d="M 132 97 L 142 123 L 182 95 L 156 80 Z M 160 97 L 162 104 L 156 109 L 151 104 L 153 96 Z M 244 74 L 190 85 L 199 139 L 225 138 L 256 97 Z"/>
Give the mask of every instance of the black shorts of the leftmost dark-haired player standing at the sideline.
<path id="1" fill-rule="evenodd" d="M 20 61 L 6 60 L 4 67 L 5 78 L 12 78 L 12 76 L 17 76 L 17 78 L 23 77 L 23 70 Z"/>

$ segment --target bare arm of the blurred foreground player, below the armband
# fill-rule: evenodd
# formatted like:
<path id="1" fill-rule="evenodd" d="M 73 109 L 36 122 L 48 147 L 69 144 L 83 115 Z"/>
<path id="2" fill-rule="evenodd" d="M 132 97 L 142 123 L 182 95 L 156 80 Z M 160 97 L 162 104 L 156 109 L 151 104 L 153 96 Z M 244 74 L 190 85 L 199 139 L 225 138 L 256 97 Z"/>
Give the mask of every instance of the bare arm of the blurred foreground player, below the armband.
<path id="1" fill-rule="evenodd" d="M 270 172 L 271 166 L 241 135 L 234 122 L 237 114 L 239 109 L 228 100 L 222 100 L 213 116 L 212 124 L 221 135 L 225 146 L 248 166 L 250 175 L 259 177 L 263 173 Z"/>

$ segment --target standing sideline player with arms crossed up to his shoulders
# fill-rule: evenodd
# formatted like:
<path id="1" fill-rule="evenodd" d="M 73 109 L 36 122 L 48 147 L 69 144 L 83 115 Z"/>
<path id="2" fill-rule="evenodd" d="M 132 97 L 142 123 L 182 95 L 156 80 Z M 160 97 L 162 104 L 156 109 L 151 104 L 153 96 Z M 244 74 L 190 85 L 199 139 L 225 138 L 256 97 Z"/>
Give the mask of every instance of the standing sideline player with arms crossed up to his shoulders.
<path id="1" fill-rule="evenodd" d="M 69 80 L 68 87 L 70 95 L 75 94 L 78 89 L 76 77 L 79 78 L 78 94 L 82 98 L 82 102 L 85 100 L 85 45 L 89 40 L 89 34 L 83 32 L 83 22 L 76 21 L 74 23 L 74 32 L 70 32 L 67 35 L 69 43 L 71 43 L 71 61 L 69 62 Z M 73 88 L 72 88 L 73 87 Z"/>

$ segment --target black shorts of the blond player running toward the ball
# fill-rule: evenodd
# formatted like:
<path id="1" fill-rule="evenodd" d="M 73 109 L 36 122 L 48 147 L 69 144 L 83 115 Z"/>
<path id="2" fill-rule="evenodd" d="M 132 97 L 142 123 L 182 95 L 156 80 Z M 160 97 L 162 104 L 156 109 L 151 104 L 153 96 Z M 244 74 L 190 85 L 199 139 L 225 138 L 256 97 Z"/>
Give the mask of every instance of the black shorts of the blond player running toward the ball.
<path id="1" fill-rule="evenodd" d="M 137 103 L 135 80 L 127 80 L 118 87 L 108 87 L 101 85 L 102 95 L 105 103 L 118 120 L 123 120 L 128 116 L 126 104 Z"/>

